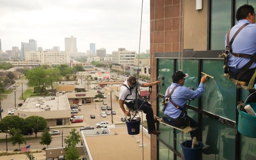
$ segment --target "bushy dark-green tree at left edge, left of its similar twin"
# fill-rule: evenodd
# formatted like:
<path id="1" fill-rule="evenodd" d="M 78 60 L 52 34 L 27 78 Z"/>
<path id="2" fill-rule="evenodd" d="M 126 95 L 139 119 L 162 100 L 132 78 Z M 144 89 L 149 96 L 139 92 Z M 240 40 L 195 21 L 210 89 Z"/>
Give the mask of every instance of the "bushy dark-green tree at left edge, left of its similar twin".
<path id="1" fill-rule="evenodd" d="M 0 131 L 13 135 L 12 128 L 22 130 L 25 127 L 25 120 L 19 116 L 6 116 L 0 121 Z"/>

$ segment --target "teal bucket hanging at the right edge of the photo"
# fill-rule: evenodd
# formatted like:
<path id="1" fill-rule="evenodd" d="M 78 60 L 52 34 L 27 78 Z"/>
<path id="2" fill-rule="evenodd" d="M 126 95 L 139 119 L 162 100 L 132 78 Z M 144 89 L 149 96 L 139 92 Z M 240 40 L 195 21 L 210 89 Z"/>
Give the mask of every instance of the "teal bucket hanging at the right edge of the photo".
<path id="1" fill-rule="evenodd" d="M 254 112 L 256 112 L 256 103 L 246 103 L 245 105 L 251 105 Z M 247 137 L 256 138 L 256 116 L 247 114 L 241 110 L 238 110 L 238 131 L 242 135 Z"/>

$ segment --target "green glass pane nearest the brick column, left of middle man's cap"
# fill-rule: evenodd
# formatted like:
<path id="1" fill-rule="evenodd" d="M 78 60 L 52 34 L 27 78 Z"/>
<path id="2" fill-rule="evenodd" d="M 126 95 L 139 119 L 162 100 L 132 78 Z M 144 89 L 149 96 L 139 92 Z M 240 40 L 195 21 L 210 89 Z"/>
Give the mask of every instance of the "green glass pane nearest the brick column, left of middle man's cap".
<path id="1" fill-rule="evenodd" d="M 174 72 L 174 59 L 158 59 L 158 76 L 165 78 L 165 85 L 161 87 L 160 94 L 165 95 L 165 91 L 171 85 L 171 76 Z"/>

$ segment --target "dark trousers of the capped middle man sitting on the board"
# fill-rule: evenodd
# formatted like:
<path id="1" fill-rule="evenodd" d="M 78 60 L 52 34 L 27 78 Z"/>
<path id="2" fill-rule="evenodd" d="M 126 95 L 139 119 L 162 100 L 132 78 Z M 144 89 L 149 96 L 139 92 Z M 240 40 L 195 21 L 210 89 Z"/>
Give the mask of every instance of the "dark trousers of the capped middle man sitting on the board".
<path id="1" fill-rule="evenodd" d="M 197 127 L 197 129 L 195 131 L 191 131 L 190 132 L 190 136 L 191 139 L 193 139 L 193 137 L 197 137 L 197 139 L 199 138 L 199 134 L 198 134 L 198 123 L 195 122 L 195 120 L 193 120 L 192 118 L 190 118 L 189 116 L 187 116 L 187 121 L 186 118 L 181 118 L 180 120 L 171 120 L 166 116 L 163 116 L 163 119 L 165 120 L 165 122 L 171 124 L 172 126 L 188 126 L 187 122 L 189 122 L 189 126 L 192 127 Z"/>

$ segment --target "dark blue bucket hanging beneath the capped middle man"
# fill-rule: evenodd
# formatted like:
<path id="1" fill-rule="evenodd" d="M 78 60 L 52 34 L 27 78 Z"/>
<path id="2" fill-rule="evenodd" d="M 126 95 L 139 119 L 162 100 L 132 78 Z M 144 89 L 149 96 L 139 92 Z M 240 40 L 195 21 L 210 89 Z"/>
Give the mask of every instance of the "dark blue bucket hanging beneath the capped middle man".
<path id="1" fill-rule="evenodd" d="M 197 148 L 191 148 L 192 141 L 184 141 L 181 143 L 180 147 L 182 148 L 182 155 L 184 160 L 202 160 L 202 148 L 204 147 L 204 143 L 199 142 L 199 146 Z"/>

